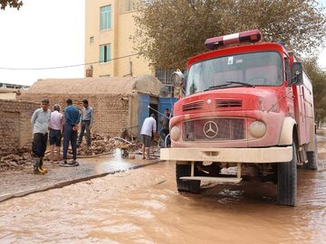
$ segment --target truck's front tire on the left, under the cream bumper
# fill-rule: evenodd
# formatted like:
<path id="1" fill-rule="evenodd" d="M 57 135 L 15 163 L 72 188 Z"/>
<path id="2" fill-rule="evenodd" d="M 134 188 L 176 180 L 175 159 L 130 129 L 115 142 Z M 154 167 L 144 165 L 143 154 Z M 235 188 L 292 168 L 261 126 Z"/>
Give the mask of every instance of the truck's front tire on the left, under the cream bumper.
<path id="1" fill-rule="evenodd" d="M 200 181 L 184 181 L 179 179 L 179 177 L 190 176 L 190 174 L 190 164 L 176 164 L 176 180 L 178 192 L 192 192 L 196 194 L 200 192 Z"/>

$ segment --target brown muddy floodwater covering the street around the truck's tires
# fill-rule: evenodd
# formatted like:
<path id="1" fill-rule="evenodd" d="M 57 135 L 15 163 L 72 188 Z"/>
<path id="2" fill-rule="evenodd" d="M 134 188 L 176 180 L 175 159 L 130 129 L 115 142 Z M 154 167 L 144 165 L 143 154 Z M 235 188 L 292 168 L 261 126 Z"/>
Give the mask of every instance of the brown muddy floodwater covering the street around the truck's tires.
<path id="1" fill-rule="evenodd" d="M 0 243 L 326 243 L 325 187 L 299 169 L 295 208 L 255 180 L 180 194 L 159 163 L 0 202 Z"/>

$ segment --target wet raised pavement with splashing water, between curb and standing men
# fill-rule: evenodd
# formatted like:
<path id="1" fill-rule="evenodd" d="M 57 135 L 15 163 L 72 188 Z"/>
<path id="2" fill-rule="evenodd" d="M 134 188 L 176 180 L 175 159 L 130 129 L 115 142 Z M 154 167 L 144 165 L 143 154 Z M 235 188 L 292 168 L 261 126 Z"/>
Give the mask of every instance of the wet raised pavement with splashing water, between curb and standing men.
<path id="1" fill-rule="evenodd" d="M 0 202 L 33 192 L 41 192 L 158 163 L 158 159 L 148 161 L 141 160 L 141 155 L 135 155 L 135 157 L 135 159 L 129 160 L 121 160 L 120 157 L 114 155 L 83 158 L 78 160 L 80 165 L 77 167 L 62 167 L 45 161 L 44 166 L 48 173 L 43 175 L 33 174 L 32 166 L 23 171 L 1 173 Z"/>

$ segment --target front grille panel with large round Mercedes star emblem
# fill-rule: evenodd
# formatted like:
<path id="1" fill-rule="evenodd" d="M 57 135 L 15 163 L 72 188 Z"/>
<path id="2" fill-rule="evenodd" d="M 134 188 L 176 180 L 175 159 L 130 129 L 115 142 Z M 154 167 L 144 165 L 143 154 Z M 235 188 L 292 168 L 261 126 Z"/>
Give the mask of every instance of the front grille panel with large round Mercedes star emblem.
<path id="1" fill-rule="evenodd" d="M 206 118 L 183 123 L 185 141 L 227 141 L 245 139 L 244 118 Z"/>

